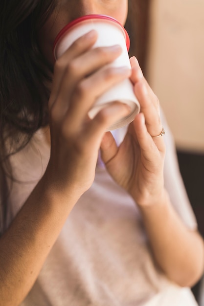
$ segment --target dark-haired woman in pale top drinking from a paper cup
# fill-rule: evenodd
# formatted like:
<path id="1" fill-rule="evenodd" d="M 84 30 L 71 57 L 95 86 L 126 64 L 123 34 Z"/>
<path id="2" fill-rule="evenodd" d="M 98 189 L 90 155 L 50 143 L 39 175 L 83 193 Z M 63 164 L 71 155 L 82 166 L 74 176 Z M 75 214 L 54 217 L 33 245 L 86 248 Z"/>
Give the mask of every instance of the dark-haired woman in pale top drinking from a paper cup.
<path id="1" fill-rule="evenodd" d="M 125 24 L 128 1 L 4 0 L 0 12 L 1 305 L 168 305 L 172 294 L 196 305 L 182 287 L 203 273 L 203 240 L 136 58 L 131 70 L 104 68 L 121 50 L 91 49 L 91 31 L 53 61 L 68 22 Z M 87 113 L 127 77 L 141 112 L 113 137 L 106 127 L 129 109 Z"/>

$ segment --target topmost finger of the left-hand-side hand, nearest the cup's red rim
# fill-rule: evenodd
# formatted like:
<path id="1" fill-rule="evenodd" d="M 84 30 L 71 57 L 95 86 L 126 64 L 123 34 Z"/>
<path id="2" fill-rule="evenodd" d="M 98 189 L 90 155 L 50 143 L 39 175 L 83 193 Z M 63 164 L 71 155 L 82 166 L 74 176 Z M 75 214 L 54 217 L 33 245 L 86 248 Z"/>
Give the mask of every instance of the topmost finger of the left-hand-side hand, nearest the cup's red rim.
<path id="1" fill-rule="evenodd" d="M 91 48 L 97 39 L 97 32 L 91 30 L 89 33 L 83 35 L 77 39 L 68 50 L 56 60 L 54 65 L 54 75 L 52 81 L 52 90 L 50 93 L 49 106 L 51 107 L 55 101 L 55 98 L 59 91 L 59 85 L 61 84 L 63 75 L 67 64 L 74 58 L 77 58 L 79 55 L 83 54 Z"/>

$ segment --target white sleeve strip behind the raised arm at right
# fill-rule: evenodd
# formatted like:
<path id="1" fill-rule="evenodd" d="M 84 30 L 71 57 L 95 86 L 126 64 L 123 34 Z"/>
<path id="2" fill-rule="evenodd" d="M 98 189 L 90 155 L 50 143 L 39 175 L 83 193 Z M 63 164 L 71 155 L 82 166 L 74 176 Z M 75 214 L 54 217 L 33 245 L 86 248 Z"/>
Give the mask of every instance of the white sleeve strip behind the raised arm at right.
<path id="1" fill-rule="evenodd" d="M 165 188 L 169 193 L 169 197 L 175 210 L 186 226 L 192 230 L 197 229 L 197 221 L 181 177 L 174 139 L 162 110 L 161 122 L 164 130 L 166 131 L 165 135 L 163 136 L 166 144 L 166 156 L 164 162 Z"/>

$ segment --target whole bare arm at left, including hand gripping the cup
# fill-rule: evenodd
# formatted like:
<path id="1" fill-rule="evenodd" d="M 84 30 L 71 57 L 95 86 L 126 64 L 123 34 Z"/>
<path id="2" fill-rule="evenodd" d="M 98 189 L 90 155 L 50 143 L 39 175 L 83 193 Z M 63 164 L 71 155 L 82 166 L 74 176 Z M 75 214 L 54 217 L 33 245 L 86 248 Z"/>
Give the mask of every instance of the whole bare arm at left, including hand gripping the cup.
<path id="1" fill-rule="evenodd" d="M 105 129 L 129 112 L 116 103 L 87 119 L 96 97 L 131 75 L 130 69 L 100 69 L 121 49 L 91 49 L 97 39 L 91 33 L 55 63 L 48 101 L 50 159 L 45 175 L 0 238 L 0 306 L 19 305 L 31 289 L 69 212 L 93 182 Z"/>

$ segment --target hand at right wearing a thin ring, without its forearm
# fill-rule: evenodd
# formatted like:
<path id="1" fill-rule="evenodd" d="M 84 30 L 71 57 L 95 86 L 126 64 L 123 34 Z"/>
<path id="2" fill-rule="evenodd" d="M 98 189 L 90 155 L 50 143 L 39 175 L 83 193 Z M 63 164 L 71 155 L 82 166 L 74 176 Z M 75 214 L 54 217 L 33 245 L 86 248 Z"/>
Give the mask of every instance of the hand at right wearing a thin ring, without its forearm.
<path id="1" fill-rule="evenodd" d="M 131 81 L 141 110 L 129 125 L 123 142 L 117 147 L 111 132 L 101 143 L 101 156 L 113 179 L 125 188 L 140 206 L 154 205 L 164 190 L 165 145 L 159 100 L 145 80 L 135 57 L 130 59 Z"/>

